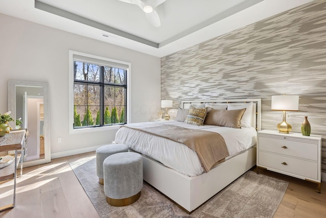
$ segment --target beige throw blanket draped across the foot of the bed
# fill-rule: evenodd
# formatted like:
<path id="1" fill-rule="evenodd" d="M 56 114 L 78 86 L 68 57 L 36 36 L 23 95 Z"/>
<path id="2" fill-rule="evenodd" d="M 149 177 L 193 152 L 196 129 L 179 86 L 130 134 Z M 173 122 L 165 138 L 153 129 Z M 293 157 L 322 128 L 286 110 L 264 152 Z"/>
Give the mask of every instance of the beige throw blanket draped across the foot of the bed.
<path id="1" fill-rule="evenodd" d="M 224 162 L 225 157 L 229 156 L 225 141 L 217 132 L 188 129 L 169 124 L 157 125 L 156 123 L 126 124 L 123 127 L 138 129 L 183 143 L 196 151 L 205 172 L 208 172 L 216 164 Z"/>

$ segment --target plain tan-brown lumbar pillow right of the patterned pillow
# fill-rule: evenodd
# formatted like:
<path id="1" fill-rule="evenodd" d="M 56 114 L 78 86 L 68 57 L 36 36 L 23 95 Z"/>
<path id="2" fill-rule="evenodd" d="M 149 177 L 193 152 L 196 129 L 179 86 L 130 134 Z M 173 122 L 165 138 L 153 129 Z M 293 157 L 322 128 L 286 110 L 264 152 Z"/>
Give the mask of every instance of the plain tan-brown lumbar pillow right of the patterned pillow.
<path id="1" fill-rule="evenodd" d="M 241 110 L 211 110 L 207 113 L 204 124 L 226 126 L 240 129 L 240 120 L 246 108 Z"/>

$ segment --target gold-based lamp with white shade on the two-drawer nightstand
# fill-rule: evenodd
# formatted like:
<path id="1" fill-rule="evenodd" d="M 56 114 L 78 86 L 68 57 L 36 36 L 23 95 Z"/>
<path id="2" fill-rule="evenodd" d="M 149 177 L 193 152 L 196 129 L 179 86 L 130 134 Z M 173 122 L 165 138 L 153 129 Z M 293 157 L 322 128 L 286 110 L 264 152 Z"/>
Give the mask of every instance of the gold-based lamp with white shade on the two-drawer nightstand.
<path id="1" fill-rule="evenodd" d="M 298 111 L 298 95 L 274 95 L 271 96 L 271 110 L 283 111 L 283 121 L 277 124 L 277 129 L 281 133 L 289 133 L 292 126 L 286 122 L 286 111 Z"/>

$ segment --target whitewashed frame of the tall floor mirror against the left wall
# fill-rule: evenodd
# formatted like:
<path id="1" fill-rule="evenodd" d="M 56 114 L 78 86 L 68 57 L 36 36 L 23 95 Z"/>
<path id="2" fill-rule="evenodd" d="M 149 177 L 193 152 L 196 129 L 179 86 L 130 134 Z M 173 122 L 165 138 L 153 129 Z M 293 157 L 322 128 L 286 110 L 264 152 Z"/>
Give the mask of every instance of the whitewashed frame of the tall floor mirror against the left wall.
<path id="1" fill-rule="evenodd" d="M 8 80 L 8 111 L 11 111 L 11 117 L 16 120 L 16 87 L 43 87 L 43 103 L 44 103 L 44 158 L 23 162 L 23 167 L 40 165 L 42 163 L 51 162 L 50 151 L 50 100 L 49 85 L 46 82 Z M 12 121 L 15 122 L 15 121 Z M 14 123 L 16 124 L 16 123 Z M 15 126 L 15 125 L 11 125 Z M 27 148 L 28 148 L 27 141 Z"/>

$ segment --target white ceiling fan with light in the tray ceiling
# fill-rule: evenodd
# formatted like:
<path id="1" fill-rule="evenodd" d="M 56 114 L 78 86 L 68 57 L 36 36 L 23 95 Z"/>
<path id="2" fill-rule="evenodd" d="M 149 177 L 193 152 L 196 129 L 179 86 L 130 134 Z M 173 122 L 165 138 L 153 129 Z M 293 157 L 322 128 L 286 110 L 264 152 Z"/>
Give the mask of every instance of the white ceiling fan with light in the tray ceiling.
<path id="1" fill-rule="evenodd" d="M 148 21 L 155 27 L 159 27 L 161 22 L 155 8 L 166 0 L 119 0 L 121 2 L 138 5 L 146 15 Z"/>

